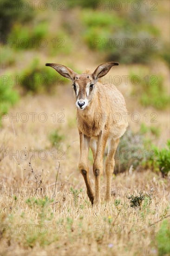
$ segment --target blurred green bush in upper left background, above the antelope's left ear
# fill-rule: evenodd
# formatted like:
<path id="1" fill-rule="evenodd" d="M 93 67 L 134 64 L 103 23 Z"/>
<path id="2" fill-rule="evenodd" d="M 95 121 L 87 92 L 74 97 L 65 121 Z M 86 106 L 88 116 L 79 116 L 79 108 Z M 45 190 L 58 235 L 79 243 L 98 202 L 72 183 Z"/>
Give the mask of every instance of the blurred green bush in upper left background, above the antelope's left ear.
<path id="1" fill-rule="evenodd" d="M 14 51 L 43 50 L 52 56 L 58 53 L 70 54 L 74 44 L 71 35 L 65 31 L 65 22 L 60 30 L 51 32 L 49 26 L 49 21 L 46 20 L 25 26 L 16 23 L 9 34 L 10 40 L 6 47 L 12 47 Z"/>

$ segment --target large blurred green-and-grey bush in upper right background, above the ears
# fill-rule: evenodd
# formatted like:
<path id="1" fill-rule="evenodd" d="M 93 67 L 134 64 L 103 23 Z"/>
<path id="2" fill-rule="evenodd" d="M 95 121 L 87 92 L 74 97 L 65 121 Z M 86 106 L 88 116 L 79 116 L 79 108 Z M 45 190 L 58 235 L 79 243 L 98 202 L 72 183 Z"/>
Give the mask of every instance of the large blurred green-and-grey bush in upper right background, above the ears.
<path id="1" fill-rule="evenodd" d="M 162 42 L 157 46 L 155 39 L 159 31 L 144 19 L 142 11 L 128 15 L 130 19 L 124 18 L 121 12 L 82 10 L 80 19 L 85 43 L 90 49 L 103 53 L 107 61 L 149 63 L 155 56 L 160 56 L 158 47 L 163 49 Z M 125 42 L 124 39 L 128 40 Z"/>

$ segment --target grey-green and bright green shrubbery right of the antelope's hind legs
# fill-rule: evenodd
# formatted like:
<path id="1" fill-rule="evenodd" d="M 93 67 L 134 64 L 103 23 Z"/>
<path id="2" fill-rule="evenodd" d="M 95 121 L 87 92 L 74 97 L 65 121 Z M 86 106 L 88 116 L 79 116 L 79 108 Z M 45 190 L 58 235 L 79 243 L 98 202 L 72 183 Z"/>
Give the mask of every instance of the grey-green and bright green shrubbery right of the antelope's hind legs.
<path id="1" fill-rule="evenodd" d="M 129 170 L 132 165 L 133 168 L 150 168 L 156 172 L 160 171 L 163 176 L 167 175 L 170 171 L 170 140 L 167 141 L 166 148 L 159 149 L 150 140 L 144 138 L 146 132 L 153 133 L 151 130 L 153 128 L 144 125 L 141 127 L 138 134 L 128 128 L 124 136 L 120 138 L 115 154 L 114 173 Z"/>

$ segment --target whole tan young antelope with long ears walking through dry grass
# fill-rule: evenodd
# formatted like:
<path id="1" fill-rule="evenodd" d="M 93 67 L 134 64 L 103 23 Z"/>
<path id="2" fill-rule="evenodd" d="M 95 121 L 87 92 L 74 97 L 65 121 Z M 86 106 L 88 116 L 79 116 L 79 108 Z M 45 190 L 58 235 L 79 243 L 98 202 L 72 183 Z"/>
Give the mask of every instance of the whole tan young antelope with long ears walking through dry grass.
<path id="1" fill-rule="evenodd" d="M 108 141 L 106 159 L 105 200 L 111 200 L 111 175 L 114 169 L 114 155 L 119 138 L 124 134 L 127 122 L 127 109 L 123 95 L 111 84 L 102 84 L 105 76 L 117 62 L 99 65 L 93 73 L 77 74 L 71 68 L 60 64 L 49 64 L 59 74 L 72 81 L 77 106 L 77 126 L 80 136 L 80 160 L 78 168 L 87 187 L 87 195 L 92 204 L 100 203 L 100 176 L 103 172 L 103 156 Z M 116 118 L 117 117 L 117 118 Z M 88 153 L 93 154 L 93 174 L 95 177 L 95 195 L 89 179 Z"/>

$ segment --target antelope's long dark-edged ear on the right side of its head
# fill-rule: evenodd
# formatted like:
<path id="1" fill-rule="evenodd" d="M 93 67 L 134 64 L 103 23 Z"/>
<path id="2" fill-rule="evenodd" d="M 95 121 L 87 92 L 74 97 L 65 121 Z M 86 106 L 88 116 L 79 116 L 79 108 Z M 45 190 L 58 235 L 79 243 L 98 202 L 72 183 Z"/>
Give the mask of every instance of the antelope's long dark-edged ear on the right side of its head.
<path id="1" fill-rule="evenodd" d="M 104 64 L 99 65 L 92 74 L 93 79 L 97 81 L 100 77 L 106 75 L 111 69 L 111 67 L 118 65 L 118 62 L 106 62 Z"/>

